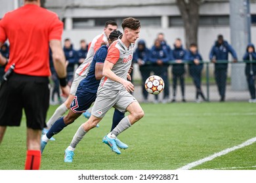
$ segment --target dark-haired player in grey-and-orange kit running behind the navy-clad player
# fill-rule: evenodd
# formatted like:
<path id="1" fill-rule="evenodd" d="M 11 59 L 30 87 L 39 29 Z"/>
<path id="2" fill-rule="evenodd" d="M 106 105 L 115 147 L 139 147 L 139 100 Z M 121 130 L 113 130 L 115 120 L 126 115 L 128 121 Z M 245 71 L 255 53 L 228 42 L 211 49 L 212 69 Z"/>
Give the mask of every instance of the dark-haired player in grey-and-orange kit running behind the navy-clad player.
<path id="1" fill-rule="evenodd" d="M 72 103 L 74 97 L 75 97 L 75 92 L 77 90 L 77 86 L 79 85 L 80 81 L 83 80 L 87 76 L 87 73 L 89 71 L 91 61 L 93 61 L 93 56 L 95 55 L 95 52 L 102 46 L 102 44 L 107 44 L 108 43 L 108 37 L 112 31 L 117 29 L 117 24 L 116 22 L 109 20 L 105 23 L 104 31 L 100 34 L 97 35 L 93 41 L 89 43 L 89 50 L 87 54 L 87 58 L 85 58 L 85 61 L 79 65 L 77 70 L 75 71 L 75 76 L 74 76 L 74 81 L 72 82 L 72 86 L 70 88 L 70 94 L 68 95 L 68 99 L 62 105 L 60 105 L 58 108 L 56 108 L 53 116 L 49 119 L 47 122 L 47 128 L 43 130 L 43 133 L 47 133 L 48 129 L 60 118 L 65 114 L 65 112 L 70 108 L 70 104 Z M 88 114 L 88 112 L 85 112 L 85 117 Z M 89 116 L 87 117 L 89 118 Z M 54 140 L 52 138 L 52 140 Z"/>

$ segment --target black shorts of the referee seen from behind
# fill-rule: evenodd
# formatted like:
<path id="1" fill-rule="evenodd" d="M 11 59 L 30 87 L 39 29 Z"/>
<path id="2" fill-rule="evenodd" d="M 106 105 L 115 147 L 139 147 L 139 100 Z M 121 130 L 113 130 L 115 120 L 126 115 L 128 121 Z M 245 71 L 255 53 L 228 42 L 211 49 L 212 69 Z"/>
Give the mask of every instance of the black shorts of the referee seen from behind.
<path id="1" fill-rule="evenodd" d="M 19 126 L 24 109 L 27 127 L 43 129 L 49 97 L 48 77 L 13 73 L 0 88 L 0 125 Z"/>

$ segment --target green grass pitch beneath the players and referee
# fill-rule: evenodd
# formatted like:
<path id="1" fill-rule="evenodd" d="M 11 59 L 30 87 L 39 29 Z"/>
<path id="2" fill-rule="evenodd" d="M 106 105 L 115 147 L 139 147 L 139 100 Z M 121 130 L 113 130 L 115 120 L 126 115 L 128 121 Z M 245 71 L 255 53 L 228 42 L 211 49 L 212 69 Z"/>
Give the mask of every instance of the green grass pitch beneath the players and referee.
<path id="1" fill-rule="evenodd" d="M 49 108 L 50 118 L 57 106 Z M 100 127 L 78 144 L 73 163 L 64 163 L 64 150 L 85 118 L 55 135 L 41 159 L 46 170 L 171 170 L 198 161 L 256 137 L 256 105 L 251 103 L 142 104 L 145 116 L 119 135 L 129 148 L 114 154 L 102 137 L 110 131 L 110 110 Z M 0 146 L 0 169 L 24 169 L 25 117 L 21 127 L 9 127 Z M 256 169 L 256 143 L 244 146 L 192 169 Z"/>

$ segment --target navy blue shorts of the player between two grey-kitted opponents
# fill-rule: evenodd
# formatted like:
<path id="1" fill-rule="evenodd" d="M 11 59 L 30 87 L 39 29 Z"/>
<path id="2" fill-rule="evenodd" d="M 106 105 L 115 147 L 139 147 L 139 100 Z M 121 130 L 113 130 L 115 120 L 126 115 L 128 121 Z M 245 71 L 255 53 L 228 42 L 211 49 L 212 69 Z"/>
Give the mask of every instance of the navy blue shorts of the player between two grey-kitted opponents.
<path id="1" fill-rule="evenodd" d="M 70 105 L 70 109 L 76 114 L 81 114 L 85 112 L 91 105 L 95 102 L 96 93 L 90 92 L 77 92 L 75 93 L 75 98 Z"/>

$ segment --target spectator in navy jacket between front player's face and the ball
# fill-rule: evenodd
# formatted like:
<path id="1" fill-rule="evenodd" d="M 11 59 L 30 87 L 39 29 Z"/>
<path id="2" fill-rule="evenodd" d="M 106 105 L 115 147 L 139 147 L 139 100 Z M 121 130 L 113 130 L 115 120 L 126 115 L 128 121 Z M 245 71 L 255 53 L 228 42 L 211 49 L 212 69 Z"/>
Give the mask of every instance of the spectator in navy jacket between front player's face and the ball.
<path id="1" fill-rule="evenodd" d="M 133 63 L 137 63 L 140 69 L 140 75 L 142 77 L 142 95 L 143 102 L 148 102 L 148 92 L 145 90 L 144 82 L 150 76 L 151 65 L 148 63 L 150 59 L 150 50 L 146 47 L 146 42 L 144 40 L 140 40 L 138 42 L 138 46 L 133 53 Z"/>

